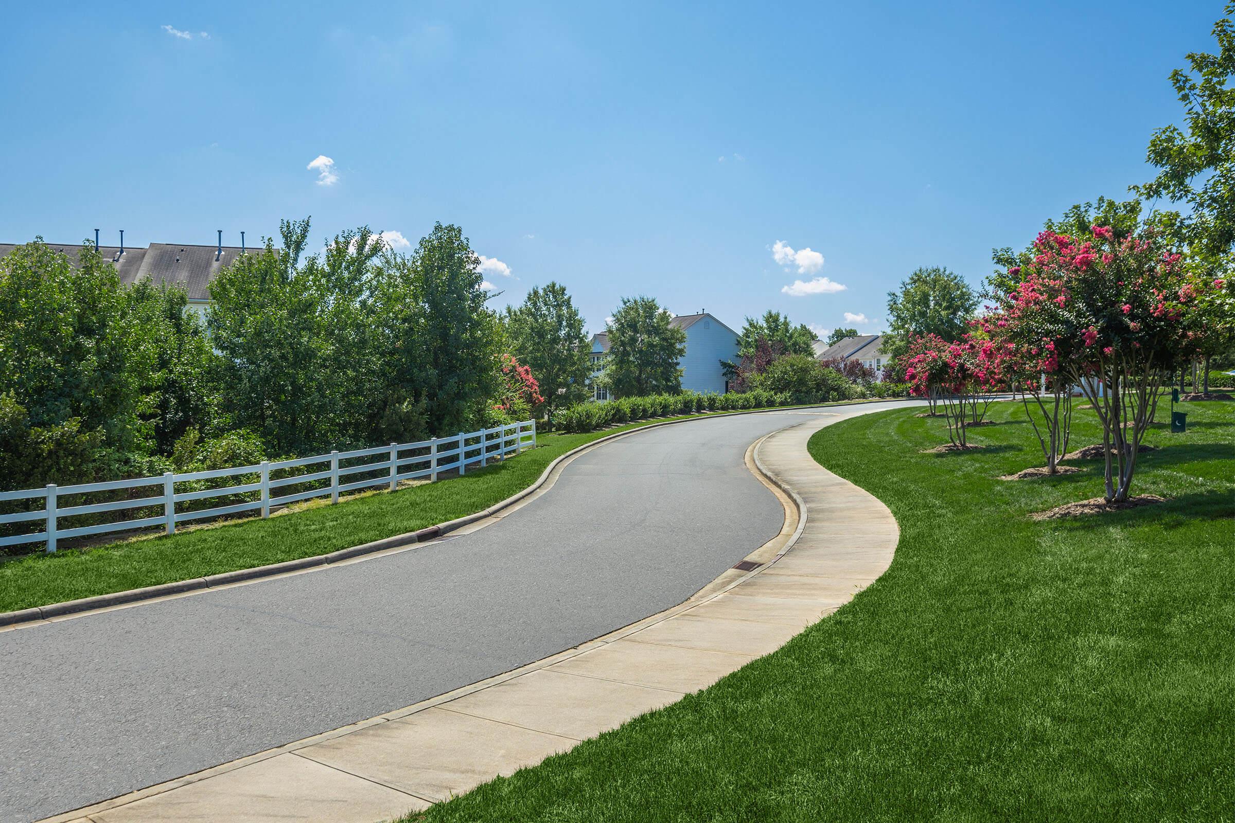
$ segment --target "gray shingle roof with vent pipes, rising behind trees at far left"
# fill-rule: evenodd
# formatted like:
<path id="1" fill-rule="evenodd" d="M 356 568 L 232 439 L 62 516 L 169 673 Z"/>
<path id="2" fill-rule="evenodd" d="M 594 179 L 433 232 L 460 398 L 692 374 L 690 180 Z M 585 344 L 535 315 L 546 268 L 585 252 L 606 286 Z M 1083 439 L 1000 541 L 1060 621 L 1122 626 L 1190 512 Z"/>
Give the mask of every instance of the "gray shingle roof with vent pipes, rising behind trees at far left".
<path id="1" fill-rule="evenodd" d="M 63 252 L 69 258 L 69 263 L 78 265 L 80 246 L 48 243 L 49 248 Z M 17 248 L 12 243 L 0 243 L 0 257 L 5 257 Z M 249 254 L 262 249 L 247 249 Z M 189 300 L 210 300 L 206 286 L 219 270 L 225 265 L 231 265 L 240 257 L 238 246 L 225 246 L 219 253 L 217 246 L 190 246 L 183 243 L 151 243 L 147 248 L 125 247 L 125 253 L 120 254 L 120 247 L 100 246 L 99 253 L 105 260 L 111 260 L 120 275 L 120 281 L 132 285 L 138 280 L 149 278 L 152 283 L 179 284 L 184 287 Z M 216 259 L 217 257 L 217 259 Z"/>

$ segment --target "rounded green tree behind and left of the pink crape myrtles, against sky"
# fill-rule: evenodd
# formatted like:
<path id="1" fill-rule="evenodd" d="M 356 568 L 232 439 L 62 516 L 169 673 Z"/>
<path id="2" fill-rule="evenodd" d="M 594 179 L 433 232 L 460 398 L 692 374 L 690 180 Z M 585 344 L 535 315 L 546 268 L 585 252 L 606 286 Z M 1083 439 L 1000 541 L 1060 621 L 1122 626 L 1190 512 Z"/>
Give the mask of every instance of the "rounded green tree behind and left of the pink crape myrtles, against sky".
<path id="1" fill-rule="evenodd" d="M 888 292 L 888 332 L 883 350 L 899 357 L 911 337 L 939 334 L 956 341 L 978 307 L 978 297 L 961 275 L 944 267 L 923 267 Z"/>

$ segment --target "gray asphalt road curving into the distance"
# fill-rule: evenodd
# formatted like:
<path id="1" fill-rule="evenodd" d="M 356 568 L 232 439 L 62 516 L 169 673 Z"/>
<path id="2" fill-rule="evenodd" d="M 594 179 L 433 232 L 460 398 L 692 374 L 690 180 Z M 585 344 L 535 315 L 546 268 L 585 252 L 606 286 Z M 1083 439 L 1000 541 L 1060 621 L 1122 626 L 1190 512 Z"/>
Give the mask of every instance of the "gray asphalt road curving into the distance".
<path id="1" fill-rule="evenodd" d="M 641 432 L 472 534 L 0 632 L 0 821 L 409 706 L 674 606 L 781 529 L 781 503 L 742 457 L 805 420 Z"/>

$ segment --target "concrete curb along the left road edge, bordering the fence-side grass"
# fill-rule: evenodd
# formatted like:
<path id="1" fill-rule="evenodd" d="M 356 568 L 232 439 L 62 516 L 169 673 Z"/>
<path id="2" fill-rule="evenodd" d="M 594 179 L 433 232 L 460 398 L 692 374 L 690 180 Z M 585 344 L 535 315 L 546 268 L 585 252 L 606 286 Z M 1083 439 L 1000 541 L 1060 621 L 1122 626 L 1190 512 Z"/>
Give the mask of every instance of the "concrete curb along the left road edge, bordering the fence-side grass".
<path id="1" fill-rule="evenodd" d="M 235 571 L 222 571 L 215 575 L 207 575 L 205 577 L 193 577 L 190 580 L 178 580 L 175 582 L 159 584 L 157 586 L 146 586 L 144 589 L 130 589 L 126 591 L 111 592 L 107 595 L 95 595 L 93 597 L 82 597 L 79 600 L 68 600 L 61 603 L 49 603 L 47 606 L 35 606 L 32 608 L 22 608 L 15 612 L 0 612 L 0 627 L 20 628 L 26 624 L 42 623 L 53 617 L 64 617 L 68 614 L 77 614 L 80 612 L 89 612 L 100 608 L 110 608 L 112 606 L 127 606 L 147 600 L 157 600 L 159 597 L 167 597 L 169 595 L 182 595 L 189 591 L 215 589 L 219 586 L 225 586 L 236 582 L 246 582 L 252 580 L 261 580 L 262 577 L 273 577 L 275 575 L 288 574 L 290 571 L 300 571 L 304 569 L 311 569 L 315 566 L 326 566 L 342 560 L 351 560 L 358 556 L 377 554 L 379 552 L 387 552 L 390 549 L 405 548 L 409 545 L 415 545 L 416 543 L 424 543 L 438 538 L 443 534 L 453 532 L 454 529 L 463 528 L 464 526 L 471 526 L 478 521 L 485 519 L 487 517 L 493 517 L 498 512 L 510 508 L 515 503 L 522 501 L 524 498 L 534 495 L 545 486 L 550 476 L 557 470 L 559 465 L 572 460 L 583 452 L 588 449 L 597 448 L 604 443 L 610 443 L 613 440 L 627 437 L 630 434 L 637 434 L 638 432 L 645 432 L 652 428 L 659 428 L 662 426 L 674 426 L 677 423 L 692 423 L 699 420 L 710 420 L 714 417 L 735 417 L 737 415 L 766 415 L 772 412 L 785 412 L 805 408 L 827 408 L 827 407 L 847 407 L 847 406 L 862 406 L 866 403 L 882 403 L 889 402 L 888 400 L 858 400 L 852 402 L 831 403 L 831 405 L 819 405 L 819 406 L 777 406 L 773 408 L 747 408 L 742 411 L 734 412 L 720 412 L 711 415 L 697 415 L 694 417 L 684 417 L 682 420 L 666 420 L 656 423 L 648 423 L 647 426 L 640 426 L 625 432 L 615 432 L 613 434 L 606 434 L 604 437 L 597 438 L 590 443 L 584 443 L 578 445 L 566 454 L 558 455 L 552 463 L 545 466 L 541 475 L 526 489 L 522 489 L 510 497 L 489 506 L 484 511 L 474 512 L 472 515 L 466 515 L 445 523 L 438 523 L 436 526 L 430 526 L 416 532 L 408 532 L 405 534 L 395 534 L 394 537 L 387 537 L 380 540 L 373 540 L 371 543 L 362 543 L 361 545 L 353 545 L 346 549 L 338 549 L 329 554 L 317 554 L 311 558 L 298 558 L 295 560 L 284 560 L 283 563 L 272 563 L 264 566 L 253 566 L 252 569 L 237 569 Z M 756 457 L 756 460 L 758 458 Z M 763 466 L 760 466 L 761 469 Z M 769 475 L 771 476 L 771 475 Z M 777 486 L 784 490 L 787 494 L 793 494 L 783 485 L 783 481 L 777 480 Z M 800 500 L 797 500 L 799 505 Z M 803 518 L 805 519 L 805 518 Z"/>

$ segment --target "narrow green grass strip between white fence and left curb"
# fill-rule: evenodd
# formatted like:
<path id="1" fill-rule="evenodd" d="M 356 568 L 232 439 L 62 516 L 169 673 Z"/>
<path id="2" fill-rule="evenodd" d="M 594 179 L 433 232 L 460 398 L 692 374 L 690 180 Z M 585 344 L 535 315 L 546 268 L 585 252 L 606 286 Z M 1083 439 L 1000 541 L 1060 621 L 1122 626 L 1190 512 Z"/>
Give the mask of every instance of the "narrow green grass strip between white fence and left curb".
<path id="1" fill-rule="evenodd" d="M 246 519 L 4 561 L 0 612 L 252 569 L 415 532 L 483 511 L 526 489 L 545 466 L 578 445 L 656 422 L 662 421 L 587 434 L 541 434 L 536 449 L 506 463 L 394 494 L 373 492 L 335 506 L 316 501 L 267 521 Z"/>

